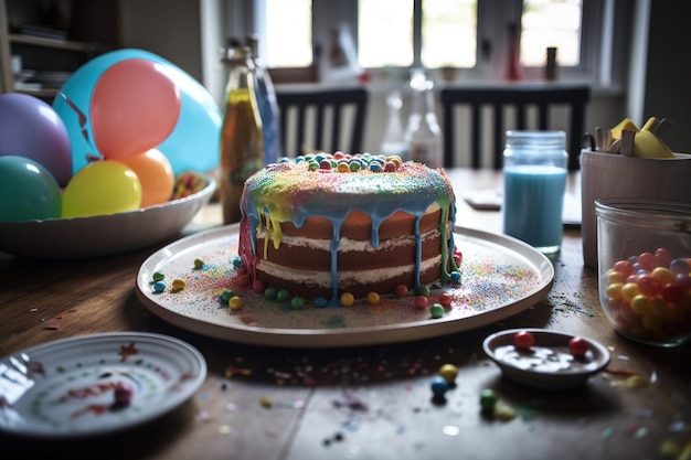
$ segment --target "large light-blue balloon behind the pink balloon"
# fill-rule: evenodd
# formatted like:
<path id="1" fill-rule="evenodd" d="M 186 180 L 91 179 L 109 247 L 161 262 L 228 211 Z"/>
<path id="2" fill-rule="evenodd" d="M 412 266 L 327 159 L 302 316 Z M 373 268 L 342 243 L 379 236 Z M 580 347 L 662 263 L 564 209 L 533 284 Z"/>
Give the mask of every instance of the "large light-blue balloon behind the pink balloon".
<path id="1" fill-rule="evenodd" d="M 53 109 L 63 119 L 72 145 L 73 173 L 100 157 L 94 143 L 88 109 L 94 86 L 113 64 L 129 58 L 146 58 L 161 64 L 180 89 L 180 117 L 173 131 L 157 146 L 173 172 L 211 171 L 219 163 L 219 140 L 222 115 L 211 96 L 198 81 L 171 62 L 143 50 L 125 49 L 102 54 L 77 68 L 53 100 Z"/>

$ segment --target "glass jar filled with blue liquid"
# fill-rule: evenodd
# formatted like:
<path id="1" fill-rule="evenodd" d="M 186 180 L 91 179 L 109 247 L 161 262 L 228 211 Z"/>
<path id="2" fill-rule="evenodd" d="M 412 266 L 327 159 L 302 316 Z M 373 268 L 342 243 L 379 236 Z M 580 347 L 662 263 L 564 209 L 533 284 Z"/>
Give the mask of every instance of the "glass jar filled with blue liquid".
<path id="1" fill-rule="evenodd" d="M 560 250 L 566 164 L 564 131 L 507 131 L 503 233 L 544 254 Z"/>

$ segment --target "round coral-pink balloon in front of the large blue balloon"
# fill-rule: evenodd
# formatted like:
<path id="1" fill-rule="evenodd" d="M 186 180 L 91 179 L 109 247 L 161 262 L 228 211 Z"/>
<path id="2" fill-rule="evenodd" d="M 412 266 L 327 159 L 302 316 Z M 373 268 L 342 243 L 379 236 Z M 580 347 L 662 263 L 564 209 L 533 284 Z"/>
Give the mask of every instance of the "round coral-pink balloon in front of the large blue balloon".
<path id="1" fill-rule="evenodd" d="M 158 63 L 120 61 L 94 85 L 91 122 L 96 149 L 106 159 L 138 154 L 161 143 L 180 116 L 180 90 Z"/>

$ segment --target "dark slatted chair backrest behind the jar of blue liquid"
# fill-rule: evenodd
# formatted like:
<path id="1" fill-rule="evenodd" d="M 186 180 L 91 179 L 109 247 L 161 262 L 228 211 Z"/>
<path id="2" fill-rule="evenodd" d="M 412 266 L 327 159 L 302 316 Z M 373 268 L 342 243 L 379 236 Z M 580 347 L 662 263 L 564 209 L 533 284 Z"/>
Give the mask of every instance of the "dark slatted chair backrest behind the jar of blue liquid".
<path id="1" fill-rule="evenodd" d="M 591 98 L 588 86 L 563 85 L 504 85 L 477 87 L 445 87 L 439 92 L 444 122 L 444 165 L 456 165 L 455 141 L 456 115 L 459 106 L 467 106 L 470 110 L 471 124 L 470 167 L 482 167 L 482 147 L 486 132 L 491 132 L 492 164 L 491 168 L 501 169 L 502 146 L 507 129 L 556 129 L 550 120 L 550 109 L 557 106 L 568 108 L 568 128 L 566 142 L 568 151 L 568 169 L 578 169 L 581 139 L 585 131 L 585 106 Z M 483 107 L 491 107 L 491 121 L 486 121 Z M 534 107 L 538 113 L 536 126 L 529 125 L 529 110 Z M 533 110 L 534 110 L 533 109 Z M 507 125 L 509 110 L 514 110 L 514 126 Z"/>

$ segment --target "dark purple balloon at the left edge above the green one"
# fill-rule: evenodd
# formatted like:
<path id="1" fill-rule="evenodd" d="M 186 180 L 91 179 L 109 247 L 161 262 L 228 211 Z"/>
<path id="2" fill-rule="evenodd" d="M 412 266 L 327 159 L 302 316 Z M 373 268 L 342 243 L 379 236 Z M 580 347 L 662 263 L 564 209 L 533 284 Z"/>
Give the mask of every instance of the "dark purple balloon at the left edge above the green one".
<path id="1" fill-rule="evenodd" d="M 4 156 L 32 159 L 61 185 L 72 178 L 67 128 L 50 105 L 34 96 L 0 95 L 0 157 Z"/>

